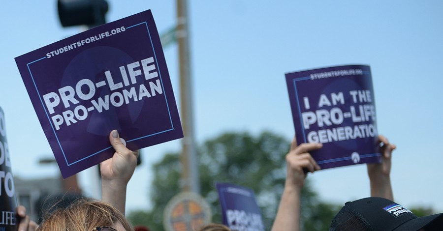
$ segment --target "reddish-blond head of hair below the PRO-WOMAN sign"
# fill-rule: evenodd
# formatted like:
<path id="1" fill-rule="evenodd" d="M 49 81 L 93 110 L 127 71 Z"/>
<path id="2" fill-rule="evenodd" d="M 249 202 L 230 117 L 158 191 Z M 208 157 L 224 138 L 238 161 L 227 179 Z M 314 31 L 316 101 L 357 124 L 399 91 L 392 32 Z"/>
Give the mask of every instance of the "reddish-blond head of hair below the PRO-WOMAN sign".
<path id="1" fill-rule="evenodd" d="M 132 231 L 125 216 L 112 205 L 87 198 L 78 199 L 67 207 L 48 213 L 37 231 L 99 231 L 99 227 Z"/>

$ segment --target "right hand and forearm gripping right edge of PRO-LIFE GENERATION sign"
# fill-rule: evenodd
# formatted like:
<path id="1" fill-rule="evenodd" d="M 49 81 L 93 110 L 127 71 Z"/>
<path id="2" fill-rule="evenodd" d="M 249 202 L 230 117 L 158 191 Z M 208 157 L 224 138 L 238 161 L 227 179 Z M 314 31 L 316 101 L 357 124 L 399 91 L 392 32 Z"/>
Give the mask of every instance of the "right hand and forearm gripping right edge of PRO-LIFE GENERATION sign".
<path id="1" fill-rule="evenodd" d="M 368 164 L 368 175 L 371 184 L 371 197 L 394 200 L 391 186 L 391 158 L 392 151 L 397 147 L 390 144 L 386 137 L 379 135 L 381 163 Z"/>

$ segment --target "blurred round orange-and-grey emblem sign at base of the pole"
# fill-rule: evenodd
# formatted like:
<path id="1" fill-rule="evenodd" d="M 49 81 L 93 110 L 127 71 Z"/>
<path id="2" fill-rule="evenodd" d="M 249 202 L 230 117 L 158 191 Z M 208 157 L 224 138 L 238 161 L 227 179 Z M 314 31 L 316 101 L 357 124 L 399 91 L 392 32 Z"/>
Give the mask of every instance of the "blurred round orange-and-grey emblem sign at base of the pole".
<path id="1" fill-rule="evenodd" d="M 200 195 L 182 192 L 174 196 L 163 213 L 166 231 L 196 231 L 211 223 L 211 208 Z"/>

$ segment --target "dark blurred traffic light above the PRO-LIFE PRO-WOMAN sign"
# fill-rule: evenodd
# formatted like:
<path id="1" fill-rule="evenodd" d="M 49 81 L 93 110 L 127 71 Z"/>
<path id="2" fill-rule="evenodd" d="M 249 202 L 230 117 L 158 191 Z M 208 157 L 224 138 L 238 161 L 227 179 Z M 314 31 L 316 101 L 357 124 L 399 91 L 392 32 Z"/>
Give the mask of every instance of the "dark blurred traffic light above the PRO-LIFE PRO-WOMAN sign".
<path id="1" fill-rule="evenodd" d="M 91 28 L 106 23 L 106 0 L 58 0 L 57 6 L 63 27 L 86 25 Z"/>

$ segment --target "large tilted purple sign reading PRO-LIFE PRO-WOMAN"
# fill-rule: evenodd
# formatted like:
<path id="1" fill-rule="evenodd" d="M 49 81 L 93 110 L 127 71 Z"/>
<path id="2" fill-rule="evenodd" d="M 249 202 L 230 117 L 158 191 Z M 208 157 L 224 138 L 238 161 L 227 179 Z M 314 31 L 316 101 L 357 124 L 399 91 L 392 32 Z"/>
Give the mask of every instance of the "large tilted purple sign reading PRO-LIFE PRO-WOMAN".
<path id="1" fill-rule="evenodd" d="M 114 153 L 183 137 L 150 10 L 15 58 L 63 177 Z"/>

